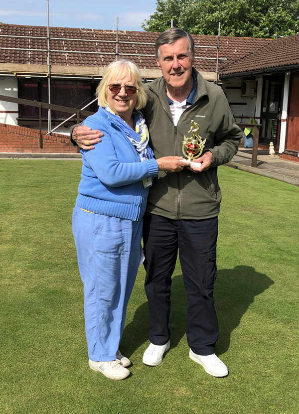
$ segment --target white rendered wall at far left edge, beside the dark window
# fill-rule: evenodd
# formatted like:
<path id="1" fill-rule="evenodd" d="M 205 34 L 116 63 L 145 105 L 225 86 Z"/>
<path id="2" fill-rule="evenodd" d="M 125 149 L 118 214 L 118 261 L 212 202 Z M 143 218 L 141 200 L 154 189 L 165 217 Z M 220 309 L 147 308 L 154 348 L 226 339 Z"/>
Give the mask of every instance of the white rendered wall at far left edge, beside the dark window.
<path id="1" fill-rule="evenodd" d="M 9 76 L 0 76 L 0 95 L 12 96 L 17 98 L 17 80 Z M 5 113 L 5 111 L 14 111 Z M 0 101 L 0 123 L 8 125 L 17 125 L 18 105 L 12 102 Z"/>

